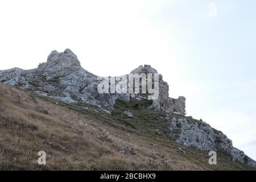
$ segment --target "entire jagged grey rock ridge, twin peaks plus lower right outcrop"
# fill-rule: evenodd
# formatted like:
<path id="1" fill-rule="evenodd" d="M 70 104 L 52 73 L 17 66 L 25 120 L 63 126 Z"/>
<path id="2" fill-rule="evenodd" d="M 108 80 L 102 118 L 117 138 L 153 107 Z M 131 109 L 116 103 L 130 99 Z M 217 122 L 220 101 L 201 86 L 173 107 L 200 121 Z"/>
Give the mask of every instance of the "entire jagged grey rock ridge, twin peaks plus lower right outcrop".
<path id="1" fill-rule="evenodd" d="M 150 65 L 141 65 L 130 73 L 158 72 Z M 0 71 L 0 82 L 68 104 L 79 102 L 93 105 L 97 108 L 95 111 L 103 111 L 106 114 L 114 112 L 117 101 L 147 100 L 147 94 L 98 93 L 97 88 L 101 80 L 82 68 L 79 59 L 70 49 L 65 49 L 64 52 L 52 51 L 47 62 L 39 64 L 35 69 L 12 68 Z M 232 140 L 221 131 L 213 129 L 201 120 L 186 117 L 185 101 L 183 96 L 169 97 L 169 86 L 163 76 L 159 75 L 159 97 L 151 102 L 148 109 L 159 112 L 159 118 L 168 123 L 168 135 L 174 136 L 176 143 L 201 151 L 223 150 L 232 156 L 234 162 L 256 166 L 256 162 L 233 147 Z M 135 117 L 130 110 L 123 110 L 122 114 L 130 119 Z"/>

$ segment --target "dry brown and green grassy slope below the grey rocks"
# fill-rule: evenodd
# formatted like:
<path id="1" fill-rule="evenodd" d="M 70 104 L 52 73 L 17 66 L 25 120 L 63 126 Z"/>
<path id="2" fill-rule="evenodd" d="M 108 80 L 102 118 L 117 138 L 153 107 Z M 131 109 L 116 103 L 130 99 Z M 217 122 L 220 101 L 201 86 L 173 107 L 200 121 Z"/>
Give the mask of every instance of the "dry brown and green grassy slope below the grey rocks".
<path id="1" fill-rule="evenodd" d="M 206 152 L 174 142 L 167 122 L 147 109 L 150 104 L 118 101 L 110 115 L 0 84 L 0 169 L 250 169 L 220 152 L 218 164 L 210 166 Z M 134 118 L 127 118 L 124 110 Z M 36 164 L 41 150 L 47 154 L 45 166 Z M 167 159 L 171 162 L 165 164 Z"/>

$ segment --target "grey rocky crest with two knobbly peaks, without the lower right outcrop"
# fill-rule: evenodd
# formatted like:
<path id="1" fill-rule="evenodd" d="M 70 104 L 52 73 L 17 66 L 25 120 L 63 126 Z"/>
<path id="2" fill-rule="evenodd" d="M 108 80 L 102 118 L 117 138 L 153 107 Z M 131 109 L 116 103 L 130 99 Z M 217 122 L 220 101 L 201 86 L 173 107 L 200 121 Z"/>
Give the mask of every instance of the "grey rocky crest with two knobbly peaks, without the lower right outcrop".
<path id="1" fill-rule="evenodd" d="M 131 73 L 158 73 L 150 65 L 140 66 Z M 126 75 L 128 77 L 128 75 Z M 117 99 L 130 101 L 147 99 L 142 94 L 109 93 L 100 94 L 97 86 L 98 77 L 81 67 L 80 61 L 70 49 L 64 52 L 52 51 L 46 63 L 39 64 L 38 68 L 22 70 L 13 68 L 0 71 L 0 81 L 6 85 L 18 86 L 21 89 L 31 90 L 42 96 L 53 97 L 57 100 L 74 103 L 82 101 L 104 107 L 111 111 Z M 153 84 L 154 86 L 154 84 Z M 169 98 L 169 86 L 159 75 L 159 98 L 151 106 L 157 110 L 179 112 L 185 114 L 185 98 L 177 100 Z"/>

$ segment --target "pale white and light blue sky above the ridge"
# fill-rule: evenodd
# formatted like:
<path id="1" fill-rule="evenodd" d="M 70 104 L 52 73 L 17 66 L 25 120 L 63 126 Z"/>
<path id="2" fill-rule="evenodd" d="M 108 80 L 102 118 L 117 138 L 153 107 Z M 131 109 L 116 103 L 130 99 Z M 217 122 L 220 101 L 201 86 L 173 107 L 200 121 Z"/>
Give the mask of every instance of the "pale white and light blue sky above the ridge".
<path id="1" fill-rule="evenodd" d="M 256 160 L 256 1 L 0 0 L 0 70 L 70 48 L 119 76 L 150 64 L 202 118 Z"/>

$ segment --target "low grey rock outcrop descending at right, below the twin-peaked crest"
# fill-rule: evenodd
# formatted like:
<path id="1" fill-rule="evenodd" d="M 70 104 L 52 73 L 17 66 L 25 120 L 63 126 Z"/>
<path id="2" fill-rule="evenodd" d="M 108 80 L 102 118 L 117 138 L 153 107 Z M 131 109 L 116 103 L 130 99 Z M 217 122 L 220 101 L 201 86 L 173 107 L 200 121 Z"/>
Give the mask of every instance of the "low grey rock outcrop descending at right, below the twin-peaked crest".
<path id="1" fill-rule="evenodd" d="M 233 160 L 256 166 L 256 162 L 245 155 L 243 151 L 234 148 L 232 140 L 226 137 L 221 131 L 213 129 L 205 122 L 196 121 L 191 118 L 188 119 L 168 119 L 170 123 L 170 131 L 179 131 L 178 133 L 175 133 L 177 143 L 187 147 L 196 147 L 204 151 L 225 150 L 233 157 Z"/>

